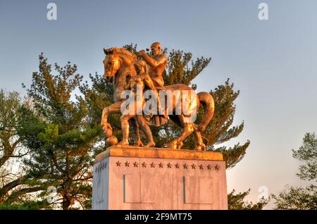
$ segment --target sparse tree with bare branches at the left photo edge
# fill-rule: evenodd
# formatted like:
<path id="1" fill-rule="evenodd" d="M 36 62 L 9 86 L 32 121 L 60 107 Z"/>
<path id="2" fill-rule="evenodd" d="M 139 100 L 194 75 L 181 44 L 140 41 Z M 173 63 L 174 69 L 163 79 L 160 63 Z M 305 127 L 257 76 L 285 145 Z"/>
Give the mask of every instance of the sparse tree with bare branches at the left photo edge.
<path id="1" fill-rule="evenodd" d="M 37 191 L 23 187 L 30 175 L 23 166 L 17 166 L 28 151 L 21 147 L 18 136 L 18 117 L 23 100 L 18 92 L 0 91 L 0 203 L 14 201 L 15 195 Z M 13 168 L 18 171 L 13 172 Z"/>

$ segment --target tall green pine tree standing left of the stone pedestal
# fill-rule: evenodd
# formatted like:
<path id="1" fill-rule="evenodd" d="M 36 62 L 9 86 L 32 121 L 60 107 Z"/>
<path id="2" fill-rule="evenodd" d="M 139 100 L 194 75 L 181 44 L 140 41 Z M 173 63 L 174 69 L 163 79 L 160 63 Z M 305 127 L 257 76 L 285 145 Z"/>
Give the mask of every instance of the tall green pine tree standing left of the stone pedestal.
<path id="1" fill-rule="evenodd" d="M 30 159 L 24 161 L 32 170 L 28 184 L 56 187 L 57 197 L 51 202 L 63 209 L 90 208 L 95 144 L 102 130 L 89 118 L 86 102 L 74 95 L 82 82 L 77 66 L 68 62 L 54 68 L 56 75 L 47 59 L 39 56 L 39 71 L 27 89 L 32 109 L 23 108 L 20 116 L 18 135 L 30 150 Z M 40 196 L 46 199 L 47 193 Z"/>

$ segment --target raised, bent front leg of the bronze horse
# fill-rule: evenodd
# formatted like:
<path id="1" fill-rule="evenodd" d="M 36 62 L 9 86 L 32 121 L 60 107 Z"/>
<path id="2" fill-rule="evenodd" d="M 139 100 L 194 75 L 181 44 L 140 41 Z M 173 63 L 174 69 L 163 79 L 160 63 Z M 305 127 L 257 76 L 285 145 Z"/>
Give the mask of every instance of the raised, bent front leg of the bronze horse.
<path id="1" fill-rule="evenodd" d="M 104 130 L 104 134 L 107 137 L 107 144 L 109 144 L 109 145 L 117 144 L 118 139 L 115 139 L 116 137 L 112 137 L 112 127 L 108 123 L 108 114 L 109 113 L 120 113 L 121 104 L 122 104 L 122 102 L 118 101 L 114 104 L 111 104 L 110 106 L 105 107 L 104 110 L 102 111 L 101 127 Z"/>

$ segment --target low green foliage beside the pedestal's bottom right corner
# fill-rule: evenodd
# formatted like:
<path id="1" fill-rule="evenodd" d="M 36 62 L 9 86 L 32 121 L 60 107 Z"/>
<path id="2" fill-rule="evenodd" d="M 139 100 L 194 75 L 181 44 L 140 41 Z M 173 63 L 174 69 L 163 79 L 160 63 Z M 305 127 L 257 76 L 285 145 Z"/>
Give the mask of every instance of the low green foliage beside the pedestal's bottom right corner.
<path id="1" fill-rule="evenodd" d="M 244 201 L 244 198 L 250 193 L 250 189 L 247 192 L 241 192 L 235 194 L 235 189 L 228 194 L 228 209 L 229 210 L 262 210 L 268 201 L 262 199 L 258 203 Z"/>

